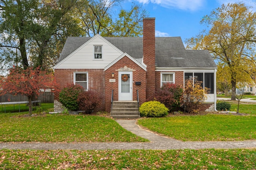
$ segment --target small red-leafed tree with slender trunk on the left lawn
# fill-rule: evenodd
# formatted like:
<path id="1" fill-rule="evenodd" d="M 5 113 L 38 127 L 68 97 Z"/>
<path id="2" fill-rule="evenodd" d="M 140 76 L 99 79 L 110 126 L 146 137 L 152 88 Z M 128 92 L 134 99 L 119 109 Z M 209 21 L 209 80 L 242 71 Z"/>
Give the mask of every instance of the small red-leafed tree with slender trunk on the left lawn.
<path id="1" fill-rule="evenodd" d="M 41 89 L 55 89 L 56 84 L 52 72 L 41 70 L 40 67 L 22 69 L 20 67 L 10 68 L 6 77 L 0 77 L 0 95 L 6 93 L 22 94 L 28 97 L 29 113 L 32 114 L 32 98 L 39 95 Z"/>

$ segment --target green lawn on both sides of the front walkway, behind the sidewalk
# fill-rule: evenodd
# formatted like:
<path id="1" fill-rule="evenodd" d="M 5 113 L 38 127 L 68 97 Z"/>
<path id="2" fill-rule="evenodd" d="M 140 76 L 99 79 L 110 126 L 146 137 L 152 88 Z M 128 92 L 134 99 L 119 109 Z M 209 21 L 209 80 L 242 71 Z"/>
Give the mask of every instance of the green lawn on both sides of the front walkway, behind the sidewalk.
<path id="1" fill-rule="evenodd" d="M 42 104 L 41 109 L 51 109 Z M 231 104 L 236 111 L 237 104 Z M 0 113 L 0 141 L 122 142 L 146 141 L 116 121 L 95 115 Z M 34 111 L 36 113 L 36 111 Z M 240 104 L 240 113 L 256 115 L 256 104 Z M 182 141 L 239 141 L 256 139 L 256 116 L 198 115 L 140 119 L 152 131 Z M 67 130 L 68 129 L 68 130 Z"/>

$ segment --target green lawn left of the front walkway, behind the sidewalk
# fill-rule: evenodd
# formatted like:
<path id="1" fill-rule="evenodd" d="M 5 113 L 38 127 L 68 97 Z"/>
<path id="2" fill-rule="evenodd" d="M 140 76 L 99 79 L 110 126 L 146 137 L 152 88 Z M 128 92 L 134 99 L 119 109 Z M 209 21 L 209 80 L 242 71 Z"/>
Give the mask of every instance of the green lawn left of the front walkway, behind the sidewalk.
<path id="1" fill-rule="evenodd" d="M 42 110 L 52 104 L 42 104 Z M 33 113 L 37 113 L 34 111 Z M 95 115 L 0 113 L 2 142 L 145 142 L 116 121 Z"/>

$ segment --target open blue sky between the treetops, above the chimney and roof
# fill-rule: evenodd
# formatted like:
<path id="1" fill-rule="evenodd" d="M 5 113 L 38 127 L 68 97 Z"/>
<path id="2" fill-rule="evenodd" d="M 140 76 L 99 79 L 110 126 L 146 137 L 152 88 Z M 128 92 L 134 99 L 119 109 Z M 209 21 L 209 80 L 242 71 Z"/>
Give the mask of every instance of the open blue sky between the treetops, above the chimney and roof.
<path id="1" fill-rule="evenodd" d="M 157 37 L 181 37 L 182 41 L 196 36 L 206 28 L 200 21 L 222 4 L 244 2 L 255 8 L 256 0 L 135 0 L 156 18 Z M 123 8 L 130 9 L 128 0 Z"/>

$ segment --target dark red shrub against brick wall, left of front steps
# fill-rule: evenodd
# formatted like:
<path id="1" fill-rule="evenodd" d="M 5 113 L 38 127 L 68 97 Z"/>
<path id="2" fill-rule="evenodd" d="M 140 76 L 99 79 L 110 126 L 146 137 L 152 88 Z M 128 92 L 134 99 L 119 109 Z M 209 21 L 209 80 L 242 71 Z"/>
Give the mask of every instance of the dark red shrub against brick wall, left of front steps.
<path id="1" fill-rule="evenodd" d="M 85 113 L 91 113 L 100 101 L 101 97 L 92 90 L 80 93 L 77 99 L 79 110 L 85 111 Z"/>

